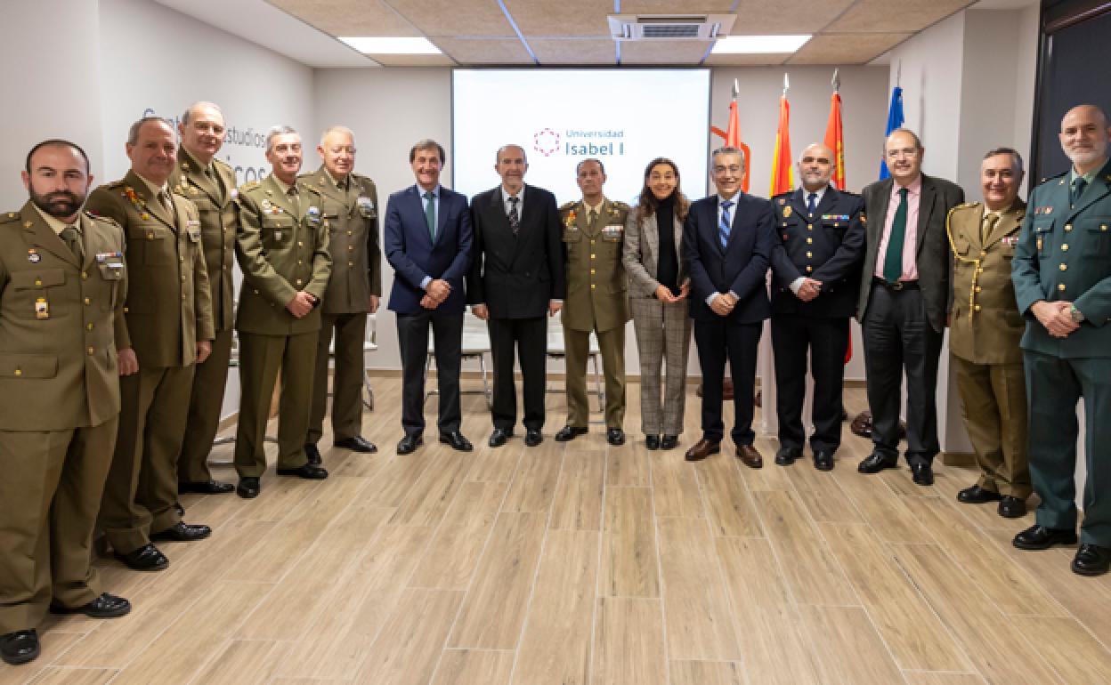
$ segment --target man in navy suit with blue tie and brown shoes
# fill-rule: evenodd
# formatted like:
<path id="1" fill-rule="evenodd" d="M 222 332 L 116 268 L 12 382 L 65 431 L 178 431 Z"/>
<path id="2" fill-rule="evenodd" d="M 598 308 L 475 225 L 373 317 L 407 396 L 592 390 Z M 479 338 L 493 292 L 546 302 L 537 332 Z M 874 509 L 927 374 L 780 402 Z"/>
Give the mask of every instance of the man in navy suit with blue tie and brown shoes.
<path id="1" fill-rule="evenodd" d="M 702 440 L 687 451 L 687 461 L 721 451 L 728 359 L 735 389 L 737 456 L 760 469 L 763 459 L 752 445 L 752 393 L 760 333 L 771 313 L 765 278 L 775 234 L 771 202 L 741 191 L 744 164 L 744 153 L 737 148 L 715 150 L 711 171 L 718 194 L 691 204 L 683 223 L 683 261 L 690 271 L 691 319 L 702 366 Z"/>

